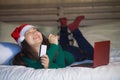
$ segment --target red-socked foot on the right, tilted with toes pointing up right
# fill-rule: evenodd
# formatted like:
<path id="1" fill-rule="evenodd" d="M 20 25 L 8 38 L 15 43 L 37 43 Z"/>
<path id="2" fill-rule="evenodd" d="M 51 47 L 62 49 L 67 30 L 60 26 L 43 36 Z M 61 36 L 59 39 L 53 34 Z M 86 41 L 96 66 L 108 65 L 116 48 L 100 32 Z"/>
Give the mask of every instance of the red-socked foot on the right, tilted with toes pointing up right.
<path id="1" fill-rule="evenodd" d="M 74 31 L 75 29 L 78 29 L 81 20 L 83 20 L 84 18 L 85 18 L 85 16 L 76 17 L 75 21 L 73 23 L 69 24 L 69 26 L 68 26 L 69 30 Z"/>

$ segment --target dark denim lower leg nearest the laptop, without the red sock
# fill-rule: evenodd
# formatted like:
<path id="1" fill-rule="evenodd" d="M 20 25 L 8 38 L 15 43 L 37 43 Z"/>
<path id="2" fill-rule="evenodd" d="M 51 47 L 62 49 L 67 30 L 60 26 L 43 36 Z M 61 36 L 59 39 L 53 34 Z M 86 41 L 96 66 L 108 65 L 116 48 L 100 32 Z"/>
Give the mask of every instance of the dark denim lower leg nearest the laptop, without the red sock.
<path id="1" fill-rule="evenodd" d="M 78 43 L 78 46 L 81 50 L 83 50 L 86 54 L 87 59 L 93 59 L 93 47 L 91 44 L 85 39 L 79 29 L 74 30 L 73 37 Z"/>

